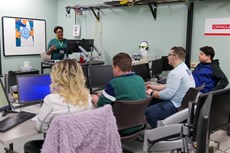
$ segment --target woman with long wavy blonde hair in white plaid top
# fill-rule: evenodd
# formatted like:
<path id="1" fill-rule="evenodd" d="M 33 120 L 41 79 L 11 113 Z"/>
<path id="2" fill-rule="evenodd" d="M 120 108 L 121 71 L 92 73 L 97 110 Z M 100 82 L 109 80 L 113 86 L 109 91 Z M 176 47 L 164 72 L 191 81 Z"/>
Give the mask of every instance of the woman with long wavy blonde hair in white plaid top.
<path id="1" fill-rule="evenodd" d="M 71 59 L 64 59 L 52 66 L 50 85 L 51 94 L 44 99 L 36 121 L 37 130 L 46 132 L 53 117 L 91 109 L 91 97 L 85 87 L 85 77 L 81 66 Z M 25 153 L 40 152 L 43 141 L 27 142 Z"/>

